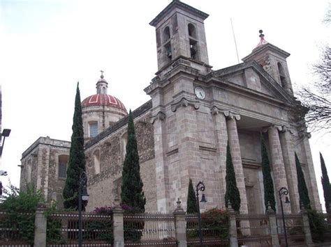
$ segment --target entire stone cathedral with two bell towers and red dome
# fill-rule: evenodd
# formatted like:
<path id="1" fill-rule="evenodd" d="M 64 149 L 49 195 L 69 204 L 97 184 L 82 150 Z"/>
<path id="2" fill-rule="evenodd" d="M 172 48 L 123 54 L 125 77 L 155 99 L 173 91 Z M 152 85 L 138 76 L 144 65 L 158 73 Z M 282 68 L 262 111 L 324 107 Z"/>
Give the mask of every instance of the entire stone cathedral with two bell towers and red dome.
<path id="1" fill-rule="evenodd" d="M 285 212 L 299 212 L 295 152 L 301 161 L 311 206 L 321 210 L 309 141 L 293 120 L 295 97 L 288 52 L 266 42 L 243 63 L 214 70 L 208 61 L 206 13 L 171 1 L 149 23 L 155 27 L 158 71 L 144 89 L 150 100 L 133 111 L 140 175 L 147 212 L 172 212 L 177 198 L 186 209 L 189 178 L 205 183 L 202 209 L 225 207 L 226 145 L 235 168 L 243 214 L 265 212 L 260 135 L 267 145 L 277 211 L 278 191 L 288 188 Z M 108 95 L 101 72 L 96 94 L 82 101 L 87 210 L 119 198 L 126 154 L 128 113 Z M 71 143 L 40 137 L 22 154 L 20 188 L 33 184 L 61 207 Z"/>

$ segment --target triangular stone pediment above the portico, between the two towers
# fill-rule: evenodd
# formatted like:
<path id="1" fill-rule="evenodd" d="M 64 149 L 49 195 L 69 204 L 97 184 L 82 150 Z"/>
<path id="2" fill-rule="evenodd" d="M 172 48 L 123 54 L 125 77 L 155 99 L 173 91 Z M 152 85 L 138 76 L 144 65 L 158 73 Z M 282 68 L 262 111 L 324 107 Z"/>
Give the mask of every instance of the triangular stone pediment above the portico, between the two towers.
<path id="1" fill-rule="evenodd" d="M 277 101 L 290 103 L 293 97 L 286 93 L 270 74 L 265 72 L 256 61 L 240 63 L 221 70 L 216 70 L 207 75 L 207 81 L 219 81 L 228 83 L 247 93 L 265 95 Z"/>

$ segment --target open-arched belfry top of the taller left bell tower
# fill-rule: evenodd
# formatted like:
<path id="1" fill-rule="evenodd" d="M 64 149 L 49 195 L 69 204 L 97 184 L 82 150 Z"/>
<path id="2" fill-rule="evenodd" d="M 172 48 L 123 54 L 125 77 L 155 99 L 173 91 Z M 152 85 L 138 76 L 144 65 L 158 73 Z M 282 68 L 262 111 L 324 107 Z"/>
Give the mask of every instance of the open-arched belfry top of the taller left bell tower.
<path id="1" fill-rule="evenodd" d="M 159 71 L 178 58 L 185 58 L 202 73 L 207 72 L 209 61 L 203 23 L 207 17 L 206 13 L 173 0 L 149 23 L 156 28 Z"/>

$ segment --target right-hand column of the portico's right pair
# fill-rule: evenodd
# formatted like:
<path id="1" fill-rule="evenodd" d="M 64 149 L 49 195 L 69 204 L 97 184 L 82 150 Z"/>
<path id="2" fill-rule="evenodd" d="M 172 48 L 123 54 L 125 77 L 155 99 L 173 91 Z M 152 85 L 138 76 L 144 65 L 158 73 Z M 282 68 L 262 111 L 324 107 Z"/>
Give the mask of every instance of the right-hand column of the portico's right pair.
<path id="1" fill-rule="evenodd" d="M 283 154 L 286 179 L 288 184 L 288 196 L 293 213 L 300 212 L 299 191 L 297 191 L 297 168 L 295 167 L 295 154 L 293 147 L 292 133 L 286 127 L 279 134 L 281 141 L 281 152 Z"/>

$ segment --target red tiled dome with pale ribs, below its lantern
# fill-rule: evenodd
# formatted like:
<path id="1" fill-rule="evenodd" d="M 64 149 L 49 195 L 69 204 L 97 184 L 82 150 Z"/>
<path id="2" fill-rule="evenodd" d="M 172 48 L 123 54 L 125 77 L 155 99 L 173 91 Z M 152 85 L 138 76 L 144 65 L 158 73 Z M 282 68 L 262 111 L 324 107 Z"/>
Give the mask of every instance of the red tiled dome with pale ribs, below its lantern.
<path id="1" fill-rule="evenodd" d="M 111 106 L 126 111 L 124 104 L 119 99 L 101 93 L 91 95 L 82 101 L 82 108 L 89 106 Z"/>

